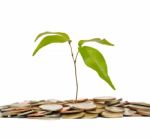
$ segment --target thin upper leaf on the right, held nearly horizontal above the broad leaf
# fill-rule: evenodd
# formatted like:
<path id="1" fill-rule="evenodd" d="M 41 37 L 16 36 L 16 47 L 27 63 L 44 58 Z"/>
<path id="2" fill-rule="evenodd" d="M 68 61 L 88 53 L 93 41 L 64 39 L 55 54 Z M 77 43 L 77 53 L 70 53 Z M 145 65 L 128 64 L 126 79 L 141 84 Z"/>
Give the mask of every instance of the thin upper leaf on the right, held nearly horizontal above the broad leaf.
<path id="1" fill-rule="evenodd" d="M 97 42 L 97 43 L 104 44 L 104 45 L 114 46 L 112 43 L 110 43 L 106 39 L 100 39 L 100 38 L 93 38 L 93 39 L 89 39 L 89 40 L 80 40 L 78 45 L 82 46 L 86 42 Z"/>

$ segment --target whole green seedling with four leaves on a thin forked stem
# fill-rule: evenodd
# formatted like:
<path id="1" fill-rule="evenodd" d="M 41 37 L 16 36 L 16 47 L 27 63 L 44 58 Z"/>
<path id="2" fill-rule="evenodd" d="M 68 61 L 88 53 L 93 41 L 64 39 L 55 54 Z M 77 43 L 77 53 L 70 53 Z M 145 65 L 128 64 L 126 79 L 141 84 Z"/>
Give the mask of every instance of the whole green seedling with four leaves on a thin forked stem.
<path id="1" fill-rule="evenodd" d="M 45 37 L 43 37 L 43 36 L 45 36 Z M 88 67 L 95 70 L 98 73 L 98 75 L 100 76 L 100 78 L 102 78 L 105 82 L 107 82 L 111 86 L 112 89 L 115 90 L 115 87 L 108 75 L 107 64 L 106 64 L 106 61 L 105 61 L 102 53 L 93 47 L 85 45 L 85 43 L 87 43 L 87 42 L 97 42 L 99 44 L 113 46 L 112 43 L 110 43 L 106 39 L 100 39 L 100 38 L 80 40 L 78 42 L 78 51 L 77 51 L 76 55 L 74 55 L 72 45 L 71 45 L 72 41 L 71 41 L 70 37 L 68 36 L 68 34 L 66 34 L 64 32 L 43 32 L 43 33 L 40 33 L 36 37 L 35 41 L 37 41 L 40 37 L 43 37 L 43 39 L 40 41 L 40 43 L 34 50 L 34 52 L 32 54 L 33 56 L 41 48 L 43 48 L 49 44 L 65 43 L 65 42 L 67 42 L 69 44 L 71 56 L 72 56 L 72 60 L 73 60 L 73 64 L 74 64 L 75 80 L 76 80 L 75 100 L 78 99 L 78 78 L 77 78 L 77 67 L 76 67 L 78 54 L 80 54 L 81 57 L 83 58 L 85 65 L 87 65 Z"/>

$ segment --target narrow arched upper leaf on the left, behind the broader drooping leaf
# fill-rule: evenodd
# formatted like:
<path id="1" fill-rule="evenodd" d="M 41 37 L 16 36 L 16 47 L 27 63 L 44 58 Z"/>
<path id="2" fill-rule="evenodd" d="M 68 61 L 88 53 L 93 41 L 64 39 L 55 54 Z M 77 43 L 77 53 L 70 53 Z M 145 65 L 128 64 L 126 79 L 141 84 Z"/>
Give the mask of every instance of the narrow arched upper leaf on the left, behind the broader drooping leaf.
<path id="1" fill-rule="evenodd" d="M 36 37 L 35 41 L 37 41 L 37 40 L 38 40 L 40 37 L 42 37 L 43 35 L 60 35 L 60 36 L 65 37 L 68 41 L 70 40 L 69 35 L 66 34 L 66 33 L 64 33 L 64 32 L 49 32 L 49 31 L 46 31 L 46 32 L 40 33 L 40 34 Z"/>

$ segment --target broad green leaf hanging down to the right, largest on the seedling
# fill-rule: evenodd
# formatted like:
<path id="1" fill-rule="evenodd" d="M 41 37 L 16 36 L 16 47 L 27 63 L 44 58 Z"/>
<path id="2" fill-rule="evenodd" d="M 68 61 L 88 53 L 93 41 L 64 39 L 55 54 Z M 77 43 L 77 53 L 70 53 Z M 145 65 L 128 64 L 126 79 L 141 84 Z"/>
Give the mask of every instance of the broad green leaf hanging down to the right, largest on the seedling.
<path id="1" fill-rule="evenodd" d="M 112 89 L 115 90 L 113 83 L 108 75 L 107 64 L 103 55 L 95 48 L 89 46 L 79 47 L 79 52 L 84 60 L 84 63 L 95 70 L 98 75 L 106 81 Z"/>

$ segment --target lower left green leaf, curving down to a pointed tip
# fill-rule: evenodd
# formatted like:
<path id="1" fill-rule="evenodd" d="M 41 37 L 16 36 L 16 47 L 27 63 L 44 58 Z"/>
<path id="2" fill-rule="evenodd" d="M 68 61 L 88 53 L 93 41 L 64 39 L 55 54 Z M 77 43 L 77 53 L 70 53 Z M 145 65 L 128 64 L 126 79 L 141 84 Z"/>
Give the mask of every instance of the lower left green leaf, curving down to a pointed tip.
<path id="1" fill-rule="evenodd" d="M 39 43 L 39 45 L 36 47 L 36 49 L 33 52 L 33 56 L 44 46 L 51 44 L 51 43 L 64 43 L 68 41 L 68 39 L 66 39 L 63 36 L 60 35 L 51 35 L 51 36 L 46 36 L 45 38 L 43 38 L 41 40 L 41 42 Z"/>

